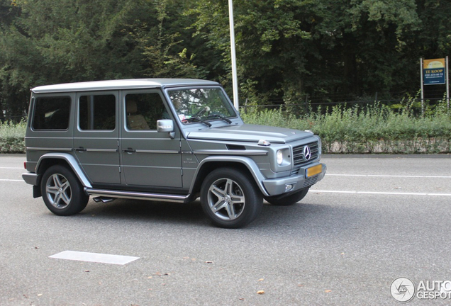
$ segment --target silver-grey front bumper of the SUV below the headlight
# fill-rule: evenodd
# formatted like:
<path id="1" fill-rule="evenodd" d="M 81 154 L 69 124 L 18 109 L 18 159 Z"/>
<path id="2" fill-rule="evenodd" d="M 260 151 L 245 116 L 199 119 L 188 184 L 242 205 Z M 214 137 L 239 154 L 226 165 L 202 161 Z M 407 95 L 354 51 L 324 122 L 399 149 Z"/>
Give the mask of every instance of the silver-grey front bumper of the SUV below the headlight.
<path id="1" fill-rule="evenodd" d="M 312 186 L 313 184 L 321 181 L 325 176 L 325 171 L 327 170 L 327 166 L 325 164 L 322 165 L 322 171 L 319 174 L 306 178 L 306 169 L 311 166 L 316 166 L 320 163 L 310 164 L 308 166 L 302 167 L 299 169 L 299 173 L 296 176 L 288 176 L 280 179 L 267 179 L 263 180 L 263 186 L 269 196 L 279 196 L 282 193 L 292 193 L 294 191 L 299 191 L 301 189 Z M 286 186 L 292 186 L 287 189 Z"/>

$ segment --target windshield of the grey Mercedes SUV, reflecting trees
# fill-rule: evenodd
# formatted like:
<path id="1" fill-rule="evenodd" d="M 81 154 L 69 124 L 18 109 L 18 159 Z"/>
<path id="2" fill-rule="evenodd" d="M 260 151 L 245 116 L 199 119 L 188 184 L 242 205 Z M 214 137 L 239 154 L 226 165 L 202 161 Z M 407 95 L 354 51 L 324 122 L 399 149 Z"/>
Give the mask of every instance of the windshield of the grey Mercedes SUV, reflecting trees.
<path id="1" fill-rule="evenodd" d="M 236 117 L 235 108 L 222 89 L 179 89 L 170 90 L 168 93 L 177 115 L 184 124 L 199 122 L 199 119 L 216 120 Z"/>

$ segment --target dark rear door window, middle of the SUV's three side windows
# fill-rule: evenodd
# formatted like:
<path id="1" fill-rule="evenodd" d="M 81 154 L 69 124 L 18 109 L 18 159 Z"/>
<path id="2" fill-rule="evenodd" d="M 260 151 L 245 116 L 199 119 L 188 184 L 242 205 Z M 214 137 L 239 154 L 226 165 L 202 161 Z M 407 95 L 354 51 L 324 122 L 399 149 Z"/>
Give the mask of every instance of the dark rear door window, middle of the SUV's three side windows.
<path id="1" fill-rule="evenodd" d="M 116 96 L 80 96 L 79 128 L 80 130 L 114 130 L 116 128 Z"/>

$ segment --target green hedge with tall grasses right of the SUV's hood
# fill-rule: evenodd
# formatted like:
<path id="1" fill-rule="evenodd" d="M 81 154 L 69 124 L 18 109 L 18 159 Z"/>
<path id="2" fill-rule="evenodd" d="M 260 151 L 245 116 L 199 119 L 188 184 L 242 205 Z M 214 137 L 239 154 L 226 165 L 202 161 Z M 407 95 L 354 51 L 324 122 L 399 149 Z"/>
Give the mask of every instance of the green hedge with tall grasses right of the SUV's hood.
<path id="1" fill-rule="evenodd" d="M 451 115 L 446 107 L 418 117 L 408 108 L 345 108 L 296 118 L 282 110 L 242 113 L 245 123 L 311 130 L 321 137 L 324 153 L 438 154 L 451 152 Z"/>

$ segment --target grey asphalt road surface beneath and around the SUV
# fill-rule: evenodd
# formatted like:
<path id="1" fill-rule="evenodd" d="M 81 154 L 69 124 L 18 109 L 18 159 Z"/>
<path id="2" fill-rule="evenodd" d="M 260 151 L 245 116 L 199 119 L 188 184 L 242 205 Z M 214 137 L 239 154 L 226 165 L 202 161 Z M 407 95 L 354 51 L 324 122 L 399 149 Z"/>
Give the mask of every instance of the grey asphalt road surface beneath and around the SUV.
<path id="1" fill-rule="evenodd" d="M 451 156 L 323 157 L 301 203 L 244 229 L 213 227 L 199 202 L 91 200 L 57 217 L 24 160 L 0 157 L 0 305 L 399 305 L 396 278 L 451 280 Z M 139 259 L 49 257 L 62 251 Z"/>

